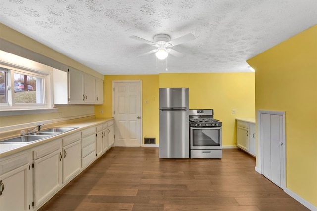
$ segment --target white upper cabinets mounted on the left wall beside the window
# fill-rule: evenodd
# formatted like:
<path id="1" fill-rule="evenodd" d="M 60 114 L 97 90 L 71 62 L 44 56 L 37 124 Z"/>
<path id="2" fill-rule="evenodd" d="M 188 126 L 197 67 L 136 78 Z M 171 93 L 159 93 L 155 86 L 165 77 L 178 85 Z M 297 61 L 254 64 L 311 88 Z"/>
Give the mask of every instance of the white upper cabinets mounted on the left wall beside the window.
<path id="1" fill-rule="evenodd" d="M 53 69 L 54 104 L 103 104 L 103 80 L 82 71 Z"/>

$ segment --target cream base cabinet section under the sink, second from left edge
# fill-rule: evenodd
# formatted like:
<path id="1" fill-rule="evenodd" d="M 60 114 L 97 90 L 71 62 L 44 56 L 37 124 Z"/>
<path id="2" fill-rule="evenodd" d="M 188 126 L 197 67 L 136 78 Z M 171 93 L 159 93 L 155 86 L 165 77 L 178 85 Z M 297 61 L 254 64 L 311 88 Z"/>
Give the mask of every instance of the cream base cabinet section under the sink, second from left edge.
<path id="1" fill-rule="evenodd" d="M 46 202 L 62 185 L 62 141 L 57 139 L 33 150 L 34 206 Z"/>

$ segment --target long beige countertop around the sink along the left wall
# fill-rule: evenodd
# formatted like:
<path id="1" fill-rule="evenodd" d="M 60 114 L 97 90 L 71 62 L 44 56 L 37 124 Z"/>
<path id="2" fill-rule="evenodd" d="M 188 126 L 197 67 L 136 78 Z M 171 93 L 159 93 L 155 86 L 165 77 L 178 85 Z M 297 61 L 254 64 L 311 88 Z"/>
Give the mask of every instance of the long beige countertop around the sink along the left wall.
<path id="1" fill-rule="evenodd" d="M 78 127 L 77 129 L 71 130 L 69 132 L 65 132 L 44 140 L 40 140 L 37 142 L 29 143 L 29 144 L 0 144 L 0 158 L 3 158 L 5 156 L 12 155 L 14 153 L 18 153 L 30 148 L 33 148 L 35 146 L 53 141 L 55 139 L 62 138 L 64 136 L 70 135 L 72 133 L 79 132 L 83 129 L 93 127 L 99 124 L 106 123 L 107 121 L 113 120 L 113 118 L 94 118 L 89 120 L 83 120 L 78 122 L 71 122 L 71 123 L 59 123 L 58 125 L 55 125 L 53 127 Z"/>

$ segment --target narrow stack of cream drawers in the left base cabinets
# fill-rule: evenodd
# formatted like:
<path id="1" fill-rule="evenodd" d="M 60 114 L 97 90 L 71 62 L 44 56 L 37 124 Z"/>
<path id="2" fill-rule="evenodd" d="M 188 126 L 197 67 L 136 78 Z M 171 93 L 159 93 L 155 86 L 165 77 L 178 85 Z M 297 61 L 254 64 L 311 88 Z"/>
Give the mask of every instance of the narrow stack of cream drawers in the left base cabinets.
<path id="1" fill-rule="evenodd" d="M 87 167 L 96 158 L 96 127 L 81 132 L 82 168 Z"/>

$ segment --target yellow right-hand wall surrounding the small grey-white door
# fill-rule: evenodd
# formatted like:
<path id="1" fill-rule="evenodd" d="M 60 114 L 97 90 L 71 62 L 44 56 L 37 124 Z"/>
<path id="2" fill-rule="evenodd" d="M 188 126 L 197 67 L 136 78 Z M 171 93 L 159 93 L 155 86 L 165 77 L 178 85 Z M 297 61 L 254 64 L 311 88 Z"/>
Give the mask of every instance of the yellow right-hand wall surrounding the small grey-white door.
<path id="1" fill-rule="evenodd" d="M 256 110 L 286 111 L 286 187 L 317 206 L 317 25 L 247 62 Z"/>

